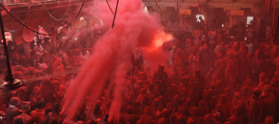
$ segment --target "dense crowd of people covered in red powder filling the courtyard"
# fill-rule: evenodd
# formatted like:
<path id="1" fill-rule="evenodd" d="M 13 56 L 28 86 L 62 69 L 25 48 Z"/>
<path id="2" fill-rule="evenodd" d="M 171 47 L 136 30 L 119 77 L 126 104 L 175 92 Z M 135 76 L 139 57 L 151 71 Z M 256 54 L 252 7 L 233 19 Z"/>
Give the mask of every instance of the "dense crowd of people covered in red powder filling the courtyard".
<path id="1" fill-rule="evenodd" d="M 178 23 L 178 21 L 176 21 Z M 121 103 L 121 124 L 274 124 L 279 116 L 279 42 L 254 42 L 235 37 L 232 29 L 210 29 L 197 21 L 195 27 L 175 32 L 162 49 L 169 60 L 158 63 L 151 72 L 140 49 L 127 73 Z M 240 24 L 240 23 L 239 23 Z M 168 23 L 167 28 L 178 24 Z M 255 26 L 251 23 L 250 26 Z M 185 28 L 184 28 L 185 29 Z M 57 38 L 51 48 L 49 38 L 31 42 L 31 57 L 24 47 L 8 42 L 11 70 L 16 79 L 32 79 L 63 73 L 82 66 L 93 54 L 94 42 L 101 35 L 84 33 L 72 44 Z M 7 72 L 1 53 L 0 69 Z M 169 68 L 171 72 L 166 72 Z M 128 70 L 127 70 L 128 71 Z M 60 113 L 63 98 L 76 73 L 27 82 L 10 91 L 1 101 L 1 123 L 72 124 Z M 114 99 L 104 87 L 97 101 L 91 97 L 79 107 L 73 124 L 105 124 Z M 96 102 L 93 115 L 87 115 L 89 102 Z"/>

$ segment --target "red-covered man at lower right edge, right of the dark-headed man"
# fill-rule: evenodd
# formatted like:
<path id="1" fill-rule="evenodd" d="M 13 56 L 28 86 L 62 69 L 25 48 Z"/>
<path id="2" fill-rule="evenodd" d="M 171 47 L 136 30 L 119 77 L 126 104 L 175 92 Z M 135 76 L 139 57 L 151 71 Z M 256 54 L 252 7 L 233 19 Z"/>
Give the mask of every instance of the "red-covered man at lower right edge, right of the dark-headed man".
<path id="1" fill-rule="evenodd" d="M 272 116 L 274 117 L 275 110 L 276 110 L 276 103 L 277 98 L 271 91 L 270 85 L 265 85 L 263 87 L 263 93 L 260 95 L 260 99 L 263 101 L 264 104 L 264 114 L 263 116 Z"/>

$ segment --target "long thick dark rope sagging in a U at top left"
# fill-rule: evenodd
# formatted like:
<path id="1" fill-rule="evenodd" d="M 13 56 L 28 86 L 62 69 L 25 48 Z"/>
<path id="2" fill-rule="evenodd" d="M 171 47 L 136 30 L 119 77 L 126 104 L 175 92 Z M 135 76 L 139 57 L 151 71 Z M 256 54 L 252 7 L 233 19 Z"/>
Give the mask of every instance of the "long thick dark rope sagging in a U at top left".
<path id="1" fill-rule="evenodd" d="M 66 29 L 67 29 L 71 24 L 73 24 L 73 22 L 78 18 L 78 15 L 79 15 L 80 11 L 82 10 L 82 7 L 83 7 L 84 3 L 85 3 L 85 0 L 83 0 L 82 6 L 80 7 L 80 9 L 79 9 L 79 11 L 78 11 L 77 16 L 74 18 L 74 20 L 73 20 L 69 25 L 66 26 L 66 28 L 65 28 L 64 30 L 66 30 Z M 30 31 L 32 31 L 32 32 L 34 32 L 34 33 L 38 33 L 38 34 L 46 35 L 46 36 L 52 36 L 52 35 L 60 34 L 61 32 L 64 31 L 64 30 L 63 30 L 63 31 L 61 31 L 60 33 L 55 33 L 55 34 L 43 34 L 43 33 L 39 33 L 39 32 L 37 32 L 37 31 L 34 31 L 33 29 L 30 29 L 30 28 L 27 27 L 25 24 L 23 24 L 23 23 L 21 23 L 19 20 L 17 20 L 17 19 L 15 18 L 15 16 L 14 16 L 14 15 L 11 15 L 11 13 L 3 6 L 2 3 L 0 3 L 0 7 L 2 7 L 3 10 L 6 11 L 6 12 L 8 13 L 8 15 L 10 15 L 15 21 L 17 21 L 17 22 L 18 22 L 19 24 L 21 24 L 23 27 L 25 27 L 26 29 L 29 29 Z"/>

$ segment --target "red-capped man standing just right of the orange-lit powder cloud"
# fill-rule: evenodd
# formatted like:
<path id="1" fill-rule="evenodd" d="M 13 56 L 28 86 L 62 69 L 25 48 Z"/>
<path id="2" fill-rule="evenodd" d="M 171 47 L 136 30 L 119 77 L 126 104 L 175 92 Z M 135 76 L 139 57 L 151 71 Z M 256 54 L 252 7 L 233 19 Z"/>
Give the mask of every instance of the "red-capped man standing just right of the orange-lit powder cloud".
<path id="1" fill-rule="evenodd" d="M 177 49 L 176 51 L 177 51 L 177 54 L 173 55 L 171 57 L 171 60 L 174 63 L 176 72 L 179 73 L 179 72 L 183 71 L 184 67 L 188 66 L 189 58 L 188 58 L 188 56 L 182 54 L 181 49 Z"/>

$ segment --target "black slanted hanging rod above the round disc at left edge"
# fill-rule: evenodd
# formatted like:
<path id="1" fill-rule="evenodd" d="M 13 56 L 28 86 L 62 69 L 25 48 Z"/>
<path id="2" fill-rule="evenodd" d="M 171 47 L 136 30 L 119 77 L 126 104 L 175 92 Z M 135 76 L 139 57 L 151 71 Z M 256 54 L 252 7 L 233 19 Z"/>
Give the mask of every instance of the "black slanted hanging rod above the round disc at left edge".
<path id="1" fill-rule="evenodd" d="M 5 77 L 5 81 L 9 81 L 10 83 L 13 83 L 15 79 L 13 78 L 13 75 L 11 74 L 11 65 L 10 65 L 10 60 L 9 60 L 8 48 L 7 48 L 7 44 L 6 44 L 6 38 L 5 38 L 5 34 L 4 34 L 4 24 L 3 24 L 1 14 L 0 14 L 0 25 L 1 25 L 1 34 L 2 34 L 2 38 L 3 38 L 5 54 L 6 54 L 6 60 L 7 60 L 8 75 Z"/>

